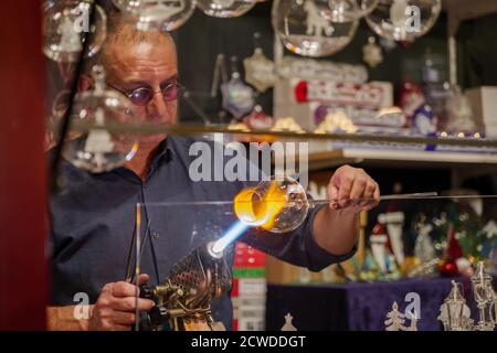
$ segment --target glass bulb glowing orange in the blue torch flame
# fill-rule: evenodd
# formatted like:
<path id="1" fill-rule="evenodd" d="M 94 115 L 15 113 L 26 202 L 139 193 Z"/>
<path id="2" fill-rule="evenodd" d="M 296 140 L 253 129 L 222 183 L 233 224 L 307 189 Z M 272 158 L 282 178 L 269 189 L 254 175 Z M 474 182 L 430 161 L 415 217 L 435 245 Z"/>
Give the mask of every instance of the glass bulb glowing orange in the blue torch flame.
<path id="1" fill-rule="evenodd" d="M 304 188 L 290 176 L 263 181 L 242 190 L 234 199 L 234 212 L 242 223 L 273 233 L 294 231 L 308 210 Z"/>

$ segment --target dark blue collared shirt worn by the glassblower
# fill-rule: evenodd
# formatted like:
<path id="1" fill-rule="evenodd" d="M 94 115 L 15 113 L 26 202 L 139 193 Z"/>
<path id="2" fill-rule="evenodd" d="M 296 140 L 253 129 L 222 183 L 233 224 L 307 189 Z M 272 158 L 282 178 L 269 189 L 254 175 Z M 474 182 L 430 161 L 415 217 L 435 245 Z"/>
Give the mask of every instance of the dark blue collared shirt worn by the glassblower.
<path id="1" fill-rule="evenodd" d="M 247 185 L 242 181 L 192 181 L 189 167 L 197 157 L 189 156 L 189 149 L 193 142 L 169 136 L 154 157 L 145 181 L 125 168 L 91 173 L 62 161 L 64 188 L 50 200 L 53 306 L 75 304 L 80 292 L 87 293 L 94 303 L 105 284 L 125 279 L 137 203 L 144 204 L 141 272 L 150 275 L 151 285 L 166 279 L 181 257 L 207 240 L 220 238 L 233 225 L 235 218 L 229 205 L 181 204 L 232 201 Z M 311 227 L 316 211 L 309 212 L 293 232 L 250 229 L 240 239 L 310 270 L 346 260 L 353 250 L 335 256 L 316 244 Z M 232 266 L 232 248 L 226 253 Z M 212 309 L 214 319 L 230 329 L 233 310 L 229 295 L 214 302 Z"/>

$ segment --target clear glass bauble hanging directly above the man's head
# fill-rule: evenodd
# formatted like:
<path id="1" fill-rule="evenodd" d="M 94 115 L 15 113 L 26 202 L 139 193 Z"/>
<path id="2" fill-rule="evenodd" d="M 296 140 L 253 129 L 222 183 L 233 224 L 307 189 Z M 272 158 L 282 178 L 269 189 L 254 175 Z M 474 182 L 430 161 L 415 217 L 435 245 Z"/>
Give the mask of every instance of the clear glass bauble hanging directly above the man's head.
<path id="1" fill-rule="evenodd" d="M 197 0 L 113 0 L 141 31 L 172 31 L 193 14 Z"/>

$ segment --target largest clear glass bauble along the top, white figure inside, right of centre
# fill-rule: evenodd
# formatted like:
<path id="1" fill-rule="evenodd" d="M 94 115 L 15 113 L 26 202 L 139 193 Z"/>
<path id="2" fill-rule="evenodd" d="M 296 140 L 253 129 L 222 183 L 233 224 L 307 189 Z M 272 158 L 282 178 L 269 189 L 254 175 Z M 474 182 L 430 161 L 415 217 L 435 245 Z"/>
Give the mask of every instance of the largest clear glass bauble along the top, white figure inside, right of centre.
<path id="1" fill-rule="evenodd" d="M 273 2 L 273 28 L 287 50 L 303 56 L 320 57 L 332 55 L 351 42 L 359 21 L 331 22 L 324 17 L 322 9 L 329 9 L 327 2 Z"/>

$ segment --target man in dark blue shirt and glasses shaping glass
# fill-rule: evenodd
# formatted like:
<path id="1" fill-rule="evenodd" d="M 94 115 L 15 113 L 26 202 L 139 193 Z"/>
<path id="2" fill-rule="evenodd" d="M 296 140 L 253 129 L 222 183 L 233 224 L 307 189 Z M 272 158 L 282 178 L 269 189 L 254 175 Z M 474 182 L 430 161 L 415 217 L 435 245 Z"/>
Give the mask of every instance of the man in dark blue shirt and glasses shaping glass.
<path id="1" fill-rule="evenodd" d="M 107 85 L 130 99 L 137 119 L 166 126 L 177 122 L 177 53 L 169 34 L 138 32 L 113 19 L 101 61 Z M 92 85 L 83 77 L 80 88 Z M 243 188 L 241 182 L 191 181 L 188 139 L 149 135 L 139 143 L 135 158 L 112 172 L 94 174 L 62 164 L 66 188 L 51 200 L 52 306 L 47 313 L 52 330 L 129 330 L 136 304 L 140 311 L 154 306 L 150 300 L 136 300 L 136 281 L 124 281 L 137 202 L 232 200 Z M 328 195 L 343 207 L 325 205 L 313 210 L 304 224 L 288 234 L 251 236 L 247 232 L 243 240 L 311 270 L 349 258 L 355 250 L 357 215 L 374 204 L 347 206 L 347 200 L 378 199 L 379 188 L 363 170 L 346 165 L 330 180 Z M 147 246 L 141 269 L 148 275 L 141 275 L 138 282 L 160 282 L 204 236 L 222 234 L 212 229 L 230 226 L 211 217 L 199 207 L 146 206 L 142 224 L 147 225 Z M 89 298 L 89 318 L 74 315 L 74 298 L 82 298 L 75 297 L 78 293 Z M 213 315 L 231 328 L 228 296 L 213 304 Z"/>

